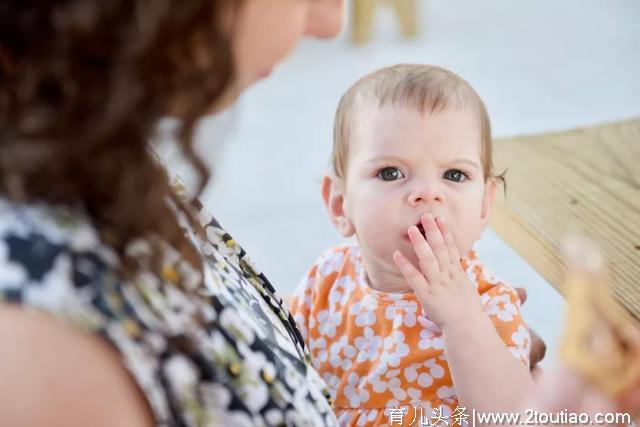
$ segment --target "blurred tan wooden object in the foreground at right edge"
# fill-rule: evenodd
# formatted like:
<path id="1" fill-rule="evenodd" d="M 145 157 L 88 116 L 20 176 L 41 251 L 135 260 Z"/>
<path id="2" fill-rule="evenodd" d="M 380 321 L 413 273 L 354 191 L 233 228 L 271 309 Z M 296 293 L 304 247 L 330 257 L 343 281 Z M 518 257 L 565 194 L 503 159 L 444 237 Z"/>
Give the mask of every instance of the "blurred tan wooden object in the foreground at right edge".
<path id="1" fill-rule="evenodd" d="M 588 241 L 567 254 L 564 364 L 613 399 L 640 389 L 640 322 L 609 293 L 601 255 Z M 565 251 L 565 253 L 568 251 Z"/>

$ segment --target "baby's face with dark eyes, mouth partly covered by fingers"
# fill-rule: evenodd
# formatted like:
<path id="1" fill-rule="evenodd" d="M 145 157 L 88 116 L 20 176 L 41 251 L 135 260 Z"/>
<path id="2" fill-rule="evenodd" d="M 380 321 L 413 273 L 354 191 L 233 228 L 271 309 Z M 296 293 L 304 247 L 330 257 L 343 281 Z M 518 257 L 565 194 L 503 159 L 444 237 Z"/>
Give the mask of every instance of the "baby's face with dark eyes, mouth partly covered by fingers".
<path id="1" fill-rule="evenodd" d="M 486 225 L 492 201 L 485 198 L 489 184 L 476 116 L 469 110 L 422 115 L 385 106 L 363 112 L 358 123 L 344 208 L 368 268 L 395 269 L 395 250 L 416 263 L 407 230 L 425 213 L 443 216 L 466 254 Z"/>

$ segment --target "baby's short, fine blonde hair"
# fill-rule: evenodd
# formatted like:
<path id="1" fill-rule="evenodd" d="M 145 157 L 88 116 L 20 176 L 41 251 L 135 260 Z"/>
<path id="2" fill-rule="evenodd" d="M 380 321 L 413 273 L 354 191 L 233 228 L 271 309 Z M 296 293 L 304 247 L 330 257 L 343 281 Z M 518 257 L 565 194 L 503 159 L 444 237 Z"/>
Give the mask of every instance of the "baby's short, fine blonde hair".
<path id="1" fill-rule="evenodd" d="M 476 91 L 460 76 L 435 65 L 399 64 L 374 71 L 355 82 L 340 99 L 333 128 L 333 172 L 346 178 L 349 142 L 358 114 L 366 105 L 378 108 L 399 105 L 424 113 L 449 108 L 471 108 L 478 116 L 482 148 L 480 160 L 484 179 L 503 181 L 494 175 L 491 123 L 484 103 Z"/>

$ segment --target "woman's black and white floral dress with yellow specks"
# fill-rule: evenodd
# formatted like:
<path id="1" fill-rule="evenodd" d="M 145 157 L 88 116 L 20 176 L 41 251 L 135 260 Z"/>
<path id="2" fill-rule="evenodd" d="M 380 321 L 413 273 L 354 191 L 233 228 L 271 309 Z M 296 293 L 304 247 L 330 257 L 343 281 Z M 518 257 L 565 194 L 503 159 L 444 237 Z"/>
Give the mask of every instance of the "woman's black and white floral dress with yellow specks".
<path id="1" fill-rule="evenodd" d="M 45 310 L 106 338 L 157 425 L 337 424 L 295 321 L 264 275 L 204 210 L 206 236 L 179 219 L 202 254 L 205 287 L 171 248 L 162 277 L 125 282 L 82 213 L 0 196 L 0 304 Z M 149 245 L 130 249 L 144 256 Z"/>

